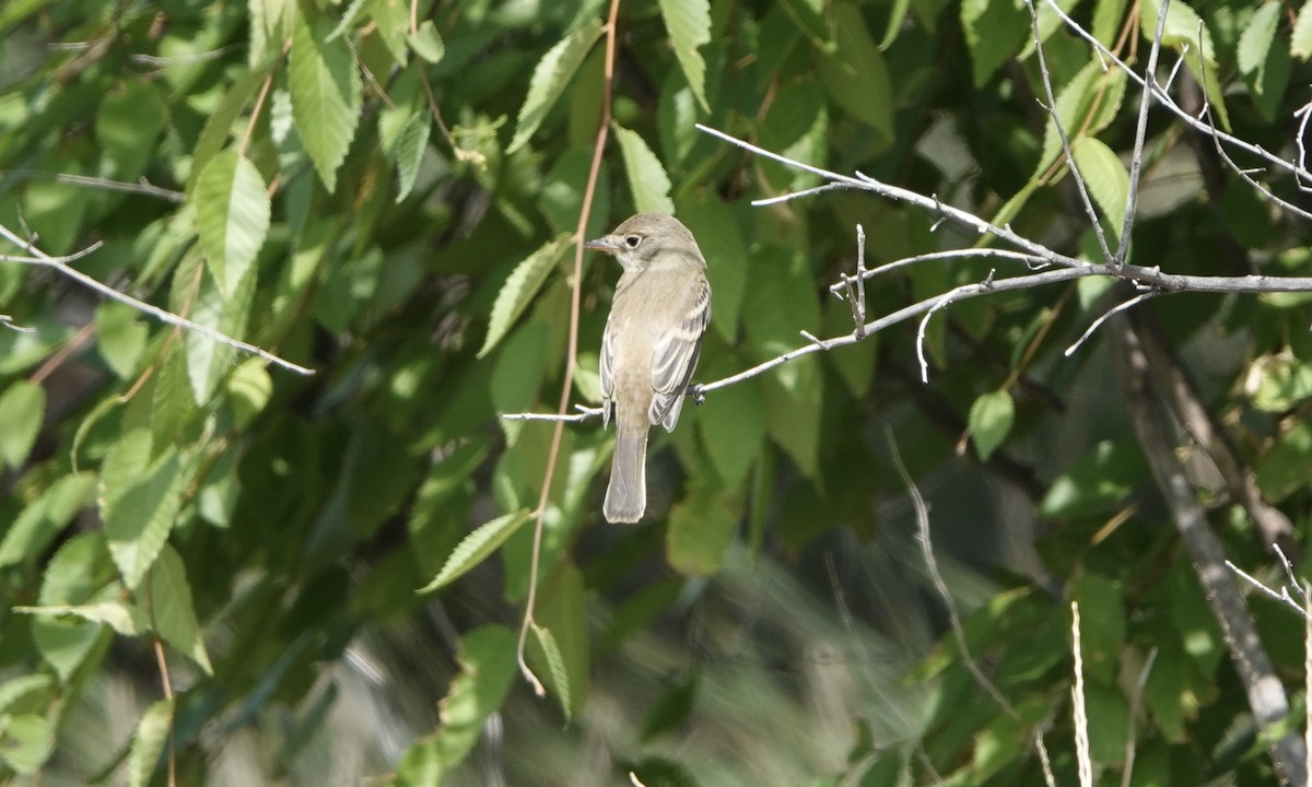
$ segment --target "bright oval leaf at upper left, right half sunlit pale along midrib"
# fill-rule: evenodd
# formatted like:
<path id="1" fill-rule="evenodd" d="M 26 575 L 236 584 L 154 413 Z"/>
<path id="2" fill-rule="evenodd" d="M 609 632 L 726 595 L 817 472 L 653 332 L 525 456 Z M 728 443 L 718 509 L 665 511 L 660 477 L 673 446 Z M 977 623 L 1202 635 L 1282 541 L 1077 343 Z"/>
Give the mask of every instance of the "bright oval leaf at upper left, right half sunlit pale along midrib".
<path id="1" fill-rule="evenodd" d="M 219 290 L 231 295 L 255 273 L 269 233 L 269 195 L 255 164 L 224 151 L 205 167 L 195 192 L 195 227 Z"/>

